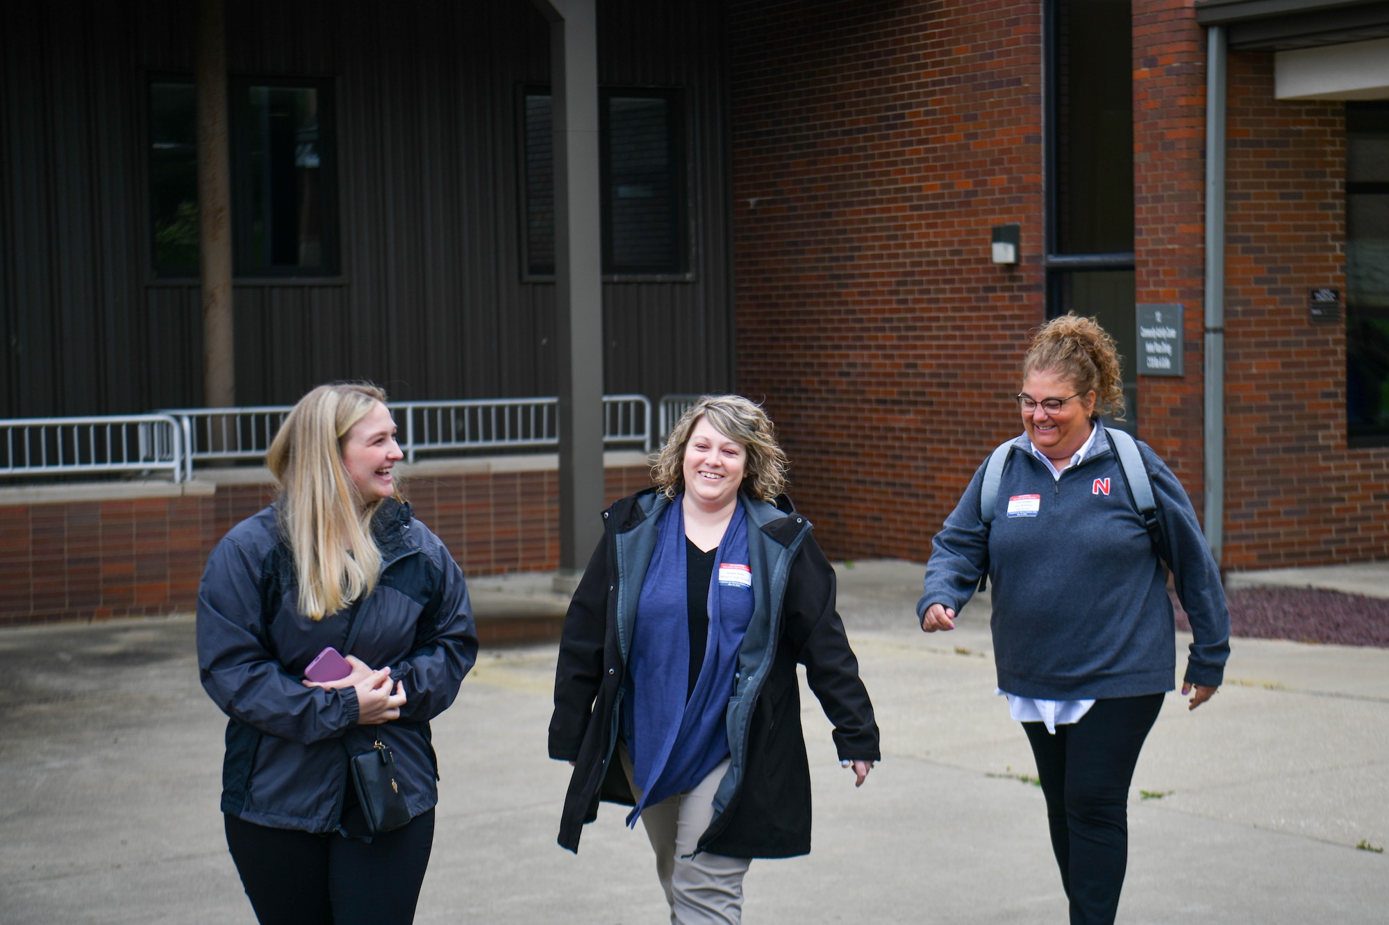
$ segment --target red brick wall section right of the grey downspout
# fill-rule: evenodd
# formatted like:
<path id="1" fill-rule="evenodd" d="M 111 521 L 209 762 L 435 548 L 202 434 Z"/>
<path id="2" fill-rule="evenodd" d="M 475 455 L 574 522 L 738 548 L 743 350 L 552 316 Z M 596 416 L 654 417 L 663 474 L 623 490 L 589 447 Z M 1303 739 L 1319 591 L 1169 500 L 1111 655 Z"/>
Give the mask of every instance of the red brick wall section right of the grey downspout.
<path id="1" fill-rule="evenodd" d="M 1389 450 L 1346 446 L 1345 107 L 1274 99 L 1271 54 L 1229 60 L 1226 535 L 1231 568 L 1389 554 Z"/>

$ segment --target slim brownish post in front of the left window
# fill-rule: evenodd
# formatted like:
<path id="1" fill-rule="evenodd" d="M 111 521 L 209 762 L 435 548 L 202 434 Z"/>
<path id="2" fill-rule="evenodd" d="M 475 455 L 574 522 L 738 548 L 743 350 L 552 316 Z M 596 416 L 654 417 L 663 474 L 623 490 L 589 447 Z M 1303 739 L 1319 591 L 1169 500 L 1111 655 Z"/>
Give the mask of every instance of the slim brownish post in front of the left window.
<path id="1" fill-rule="evenodd" d="M 226 150 L 224 0 L 199 0 L 193 50 L 197 85 L 197 214 L 203 271 L 203 404 L 236 404 L 232 346 L 232 183 Z"/>

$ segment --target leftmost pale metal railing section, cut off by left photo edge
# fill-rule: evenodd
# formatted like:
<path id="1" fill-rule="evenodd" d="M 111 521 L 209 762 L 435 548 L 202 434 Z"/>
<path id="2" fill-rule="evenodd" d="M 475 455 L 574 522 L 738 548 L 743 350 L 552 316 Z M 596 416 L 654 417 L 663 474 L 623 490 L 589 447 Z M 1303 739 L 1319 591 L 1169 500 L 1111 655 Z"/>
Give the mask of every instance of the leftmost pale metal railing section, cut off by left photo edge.
<path id="1" fill-rule="evenodd" d="M 186 474 L 183 431 L 167 414 L 0 419 L 0 476 L 168 471 Z"/>

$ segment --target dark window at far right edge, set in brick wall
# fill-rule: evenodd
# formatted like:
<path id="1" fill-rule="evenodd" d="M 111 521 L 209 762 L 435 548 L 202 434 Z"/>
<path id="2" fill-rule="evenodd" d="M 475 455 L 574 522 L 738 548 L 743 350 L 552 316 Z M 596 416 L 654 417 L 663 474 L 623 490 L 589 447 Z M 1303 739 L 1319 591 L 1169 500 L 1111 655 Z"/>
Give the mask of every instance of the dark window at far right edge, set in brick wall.
<path id="1" fill-rule="evenodd" d="M 1346 436 L 1389 446 L 1389 104 L 1346 104 Z"/>

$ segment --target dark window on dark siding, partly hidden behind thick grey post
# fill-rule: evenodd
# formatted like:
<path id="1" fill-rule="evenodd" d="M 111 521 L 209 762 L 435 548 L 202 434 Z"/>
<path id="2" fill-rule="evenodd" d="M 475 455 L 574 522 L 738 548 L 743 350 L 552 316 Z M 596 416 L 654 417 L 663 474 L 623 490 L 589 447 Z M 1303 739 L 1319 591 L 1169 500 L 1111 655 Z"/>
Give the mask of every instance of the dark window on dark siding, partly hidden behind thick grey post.
<path id="1" fill-rule="evenodd" d="M 554 274 L 554 156 L 546 90 L 526 90 L 524 106 L 524 265 Z M 603 272 L 607 276 L 675 276 L 686 272 L 686 183 L 676 90 L 599 92 L 599 169 Z"/>

